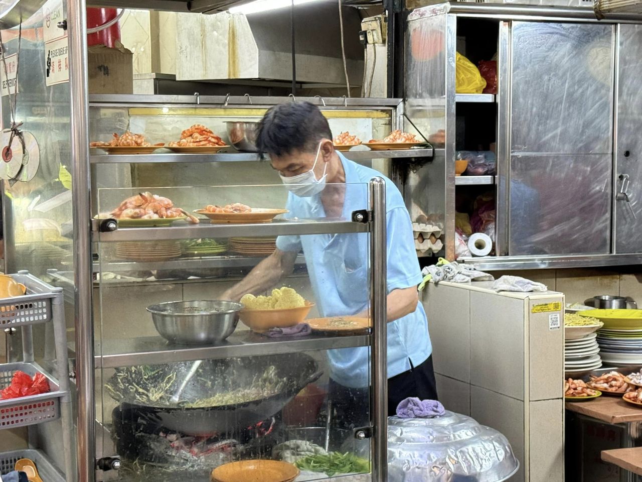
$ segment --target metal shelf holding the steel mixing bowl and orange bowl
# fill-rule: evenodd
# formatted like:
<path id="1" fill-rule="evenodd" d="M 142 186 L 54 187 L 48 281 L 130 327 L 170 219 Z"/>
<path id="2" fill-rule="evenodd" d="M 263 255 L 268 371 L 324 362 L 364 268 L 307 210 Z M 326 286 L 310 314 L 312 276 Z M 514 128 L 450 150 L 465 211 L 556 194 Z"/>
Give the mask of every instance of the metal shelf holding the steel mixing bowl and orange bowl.
<path id="1" fill-rule="evenodd" d="M 168 341 L 160 336 L 110 340 L 105 344 L 96 346 L 94 362 L 96 368 L 116 368 L 118 366 L 247 357 L 265 355 L 266 353 L 334 350 L 336 348 L 354 348 L 356 346 L 369 345 L 370 335 L 309 335 L 301 338 L 278 339 L 239 329 L 226 341 L 216 345 L 189 346 L 169 344 Z"/>

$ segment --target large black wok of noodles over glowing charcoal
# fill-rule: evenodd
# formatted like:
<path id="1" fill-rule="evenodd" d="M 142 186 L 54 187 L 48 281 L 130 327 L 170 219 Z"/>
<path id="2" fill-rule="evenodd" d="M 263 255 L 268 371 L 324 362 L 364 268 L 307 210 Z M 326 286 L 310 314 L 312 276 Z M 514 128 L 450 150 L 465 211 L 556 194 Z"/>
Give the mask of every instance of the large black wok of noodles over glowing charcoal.
<path id="1" fill-rule="evenodd" d="M 125 410 L 137 410 L 160 426 L 191 435 L 230 433 L 275 415 L 322 372 L 305 353 L 205 360 L 182 391 L 178 404 L 169 400 L 193 362 L 118 368 L 106 388 Z M 278 393 L 242 403 L 186 408 L 185 404 L 248 388 L 273 366 L 282 380 Z M 172 380 L 168 384 L 168 379 Z M 159 387 L 162 395 L 159 397 Z"/>

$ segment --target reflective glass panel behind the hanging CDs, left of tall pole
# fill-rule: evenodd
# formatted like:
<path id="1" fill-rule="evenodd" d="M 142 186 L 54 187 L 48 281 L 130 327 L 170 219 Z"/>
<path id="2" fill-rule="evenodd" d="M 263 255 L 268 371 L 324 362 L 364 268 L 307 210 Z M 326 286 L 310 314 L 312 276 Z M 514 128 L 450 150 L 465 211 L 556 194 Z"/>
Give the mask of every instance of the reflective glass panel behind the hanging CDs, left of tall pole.
<path id="1" fill-rule="evenodd" d="M 49 3 L 46 8 L 51 12 L 56 9 L 56 5 Z M 62 20 L 65 18 L 66 3 L 58 3 L 58 8 L 60 10 L 57 12 Z M 21 180 L 15 183 L 3 182 L 4 272 L 15 273 L 26 269 L 41 280 L 56 285 L 55 280 L 48 276 L 49 269 L 73 272 L 71 177 L 66 175 L 69 174 L 67 168 L 70 164 L 69 84 L 63 80 L 60 84 L 49 85 L 45 44 L 45 40 L 49 39 L 43 38 L 44 30 L 48 30 L 46 22 L 49 22 L 46 20 L 45 9 L 23 20 L 21 34 L 17 27 L 2 31 L 8 73 L 4 75 L 5 69 L 0 62 L 0 77 L 3 81 L 0 101 L 2 129 L 10 129 L 12 120 L 22 123 L 19 129 L 24 136 L 24 151 L 28 154 L 28 163 L 20 171 Z M 60 30 L 58 35 L 64 35 L 64 31 Z M 60 48 L 62 44 L 66 45 L 65 39 L 53 42 Z M 55 65 L 57 70 L 57 62 Z M 62 58 L 61 66 L 64 72 L 66 65 Z M 18 95 L 15 119 L 12 119 L 10 105 L 15 93 L 13 81 L 16 76 Z M 8 132 L 3 133 L 3 147 L 8 144 L 8 136 Z M 11 146 L 13 159 L 24 163 L 26 159 L 20 156 L 21 146 L 21 140 L 15 137 Z M 3 166 L 6 163 L 3 162 Z M 67 326 L 73 328 L 73 277 L 71 284 L 68 283 L 65 287 L 69 288 L 65 290 Z M 53 335 L 53 323 L 64 323 L 64 320 L 56 316 L 53 318 L 53 322 L 17 330 L 8 337 L 8 361 L 29 358 L 27 350 L 23 353 L 21 337 L 22 334 L 28 336 L 29 332 L 33 332 L 35 361 L 57 379 L 67 377 L 67 370 L 60 373 L 61 370 L 56 367 Z M 73 339 L 72 330 L 69 331 L 69 337 Z M 0 362 L 4 361 L 5 342 L 5 334 L 0 332 Z M 66 341 L 61 344 L 65 346 Z M 62 472 L 68 472 L 69 481 L 73 480 L 75 468 L 72 467 L 72 460 L 76 447 L 69 447 L 68 444 L 65 447 L 62 442 L 64 431 L 73 431 L 65 405 L 60 404 L 61 419 L 29 427 L 29 437 L 26 429 L 15 429 L 11 433 L 0 430 L 0 475 L 4 476 L 6 469 L 13 467 L 13 462 L 10 458 L 5 458 L 3 452 L 27 447 L 28 438 L 30 448 L 38 449 L 41 453 L 36 456 L 33 452 L 24 452 L 22 455 L 35 460 L 43 478 L 45 474 L 53 473 L 53 470 L 47 470 L 45 461 L 40 460 L 42 454 L 46 454 L 53 465 Z"/>

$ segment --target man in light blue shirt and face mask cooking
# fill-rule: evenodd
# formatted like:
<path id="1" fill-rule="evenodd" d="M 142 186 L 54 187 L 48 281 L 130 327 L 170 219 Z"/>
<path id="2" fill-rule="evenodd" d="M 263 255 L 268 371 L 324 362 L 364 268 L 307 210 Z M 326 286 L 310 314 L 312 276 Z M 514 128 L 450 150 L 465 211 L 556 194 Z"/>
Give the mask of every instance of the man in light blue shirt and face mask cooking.
<path id="1" fill-rule="evenodd" d="M 286 103 L 266 112 L 256 145 L 268 154 L 290 191 L 288 217 L 309 219 L 343 217 L 367 208 L 367 186 L 379 172 L 346 159 L 333 146 L 323 114 L 309 102 Z M 428 321 L 418 303 L 422 276 L 412 235 L 410 216 L 401 193 L 386 181 L 386 253 L 388 285 L 388 412 L 407 397 L 437 399 Z M 358 183 L 358 184 L 357 184 Z M 297 253 L 303 250 L 321 316 L 348 316 L 369 305 L 368 235 L 280 236 L 277 249 L 248 276 L 223 295 L 238 300 L 246 293 L 260 294 L 291 274 Z M 344 348 L 328 352 L 329 398 L 339 418 L 355 422 L 367 415 L 369 349 Z M 363 403 L 360 403 L 360 400 Z"/>

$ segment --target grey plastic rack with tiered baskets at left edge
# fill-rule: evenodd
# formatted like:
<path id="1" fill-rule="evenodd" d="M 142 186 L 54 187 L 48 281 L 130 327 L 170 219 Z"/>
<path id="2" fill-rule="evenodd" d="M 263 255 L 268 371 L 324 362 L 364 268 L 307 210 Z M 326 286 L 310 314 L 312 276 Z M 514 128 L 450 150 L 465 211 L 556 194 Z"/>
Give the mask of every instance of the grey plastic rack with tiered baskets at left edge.
<path id="1" fill-rule="evenodd" d="M 17 370 L 24 371 L 31 377 L 41 373 L 49 383 L 49 392 L 27 397 L 0 400 L 0 430 L 30 425 L 43 424 L 52 420 L 62 420 L 62 443 L 65 454 L 65 474 L 74 480 L 73 458 L 73 418 L 71 391 L 69 388 L 69 359 L 67 357 L 67 330 L 62 288 L 55 288 L 31 275 L 28 271 L 19 271 L 10 275 L 17 283 L 26 287 L 26 294 L 13 296 L 0 303 L 0 328 L 21 328 L 22 362 L 0 364 L 0 382 L 8 385 Z M 33 325 L 49 323 L 53 328 L 55 339 L 55 378 L 34 359 Z M 45 357 L 54 353 L 46 352 Z M 30 440 L 31 442 L 31 440 Z M 36 461 L 46 458 L 39 451 L 29 452 Z M 8 464 L 17 452 L 0 453 L 0 474 L 9 470 Z M 15 463 L 15 462 L 14 462 Z M 46 461 L 42 464 L 43 474 L 51 480 L 60 480 L 60 473 Z M 64 479 L 63 479 L 64 480 Z"/>

